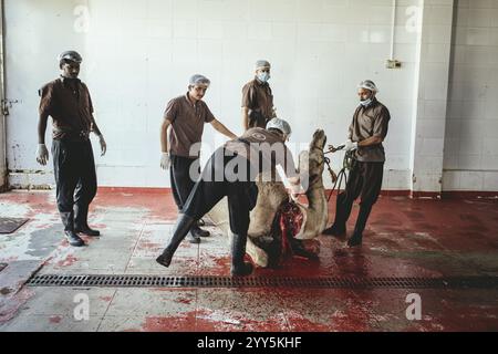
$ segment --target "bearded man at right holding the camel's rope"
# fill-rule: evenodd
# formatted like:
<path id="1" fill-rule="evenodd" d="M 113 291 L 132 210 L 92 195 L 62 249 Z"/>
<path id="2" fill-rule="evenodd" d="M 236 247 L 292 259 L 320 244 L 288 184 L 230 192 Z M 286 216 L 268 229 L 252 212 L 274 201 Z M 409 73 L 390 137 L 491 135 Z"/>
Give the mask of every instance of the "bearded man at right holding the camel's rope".
<path id="1" fill-rule="evenodd" d="M 338 196 L 335 221 L 323 233 L 342 236 L 346 232 L 354 200 L 361 196 L 360 214 L 350 247 L 362 244 L 363 231 L 378 199 L 384 176 L 385 153 L 382 143 L 387 136 L 390 111 L 377 101 L 376 85 L 366 80 L 359 86 L 360 106 L 356 108 L 350 126 L 349 139 L 344 144 L 346 152 L 354 152 L 352 168 L 344 192 Z"/>

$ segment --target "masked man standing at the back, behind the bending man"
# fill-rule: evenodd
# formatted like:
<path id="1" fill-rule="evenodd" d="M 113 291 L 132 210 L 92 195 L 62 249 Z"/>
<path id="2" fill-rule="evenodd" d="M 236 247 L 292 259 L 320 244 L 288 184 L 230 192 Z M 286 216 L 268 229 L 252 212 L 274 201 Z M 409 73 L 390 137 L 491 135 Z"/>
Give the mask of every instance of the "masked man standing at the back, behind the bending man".
<path id="1" fill-rule="evenodd" d="M 242 88 L 242 125 L 247 131 L 253 127 L 266 128 L 276 117 L 273 94 L 268 84 L 271 65 L 266 60 L 256 63 L 256 77 Z"/>

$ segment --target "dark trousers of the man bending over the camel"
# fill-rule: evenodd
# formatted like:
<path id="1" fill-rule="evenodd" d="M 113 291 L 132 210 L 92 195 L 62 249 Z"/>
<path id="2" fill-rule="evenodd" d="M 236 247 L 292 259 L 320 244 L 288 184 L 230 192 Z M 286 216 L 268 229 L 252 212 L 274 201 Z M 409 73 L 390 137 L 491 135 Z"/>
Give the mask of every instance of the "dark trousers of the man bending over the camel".
<path id="1" fill-rule="evenodd" d="M 236 180 L 236 176 L 242 176 Z M 228 197 L 231 232 L 247 236 L 249 214 L 256 207 L 258 189 L 251 181 L 251 165 L 245 157 L 226 156 L 221 147 L 207 163 L 201 178 L 195 184 L 183 214 L 196 220 L 203 218 L 224 197 Z"/>

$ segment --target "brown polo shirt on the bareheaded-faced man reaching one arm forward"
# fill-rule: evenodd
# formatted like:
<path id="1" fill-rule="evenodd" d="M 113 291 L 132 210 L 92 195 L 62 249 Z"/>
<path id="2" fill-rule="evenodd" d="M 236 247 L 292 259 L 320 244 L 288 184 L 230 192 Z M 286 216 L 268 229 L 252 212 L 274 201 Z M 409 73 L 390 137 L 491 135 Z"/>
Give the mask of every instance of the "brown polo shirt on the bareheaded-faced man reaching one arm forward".
<path id="1" fill-rule="evenodd" d="M 169 153 L 175 156 L 190 156 L 190 147 L 203 139 L 204 125 L 215 121 L 215 116 L 204 101 L 193 104 L 185 96 L 172 100 L 164 113 L 164 118 L 172 124 L 169 134 Z"/>

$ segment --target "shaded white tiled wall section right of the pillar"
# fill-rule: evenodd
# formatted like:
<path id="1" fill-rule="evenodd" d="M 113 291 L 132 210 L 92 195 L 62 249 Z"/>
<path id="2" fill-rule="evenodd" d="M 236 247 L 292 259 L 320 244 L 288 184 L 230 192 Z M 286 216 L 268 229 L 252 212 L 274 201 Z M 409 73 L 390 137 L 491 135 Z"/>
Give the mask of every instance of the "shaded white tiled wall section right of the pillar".
<path id="1" fill-rule="evenodd" d="M 445 190 L 498 190 L 498 0 L 456 1 Z"/>

